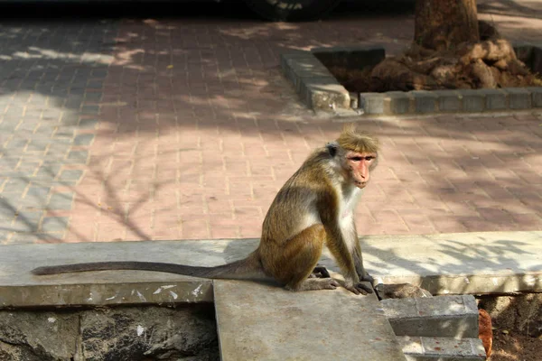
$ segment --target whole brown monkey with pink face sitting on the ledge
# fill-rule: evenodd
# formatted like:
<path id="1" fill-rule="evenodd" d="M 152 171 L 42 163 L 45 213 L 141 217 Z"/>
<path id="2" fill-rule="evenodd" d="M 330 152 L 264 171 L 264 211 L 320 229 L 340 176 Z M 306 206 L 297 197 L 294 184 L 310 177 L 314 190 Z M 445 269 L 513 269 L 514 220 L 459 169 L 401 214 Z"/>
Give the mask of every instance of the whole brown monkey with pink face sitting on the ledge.
<path id="1" fill-rule="evenodd" d="M 246 258 L 214 267 L 154 262 L 95 262 L 42 266 L 34 275 L 104 270 L 177 273 L 208 279 L 274 280 L 293 292 L 334 290 L 341 284 L 318 264 L 326 245 L 341 268 L 342 286 L 372 293 L 363 266 L 354 211 L 378 164 L 379 141 L 356 125 L 313 151 L 276 193 L 259 245 Z"/>

